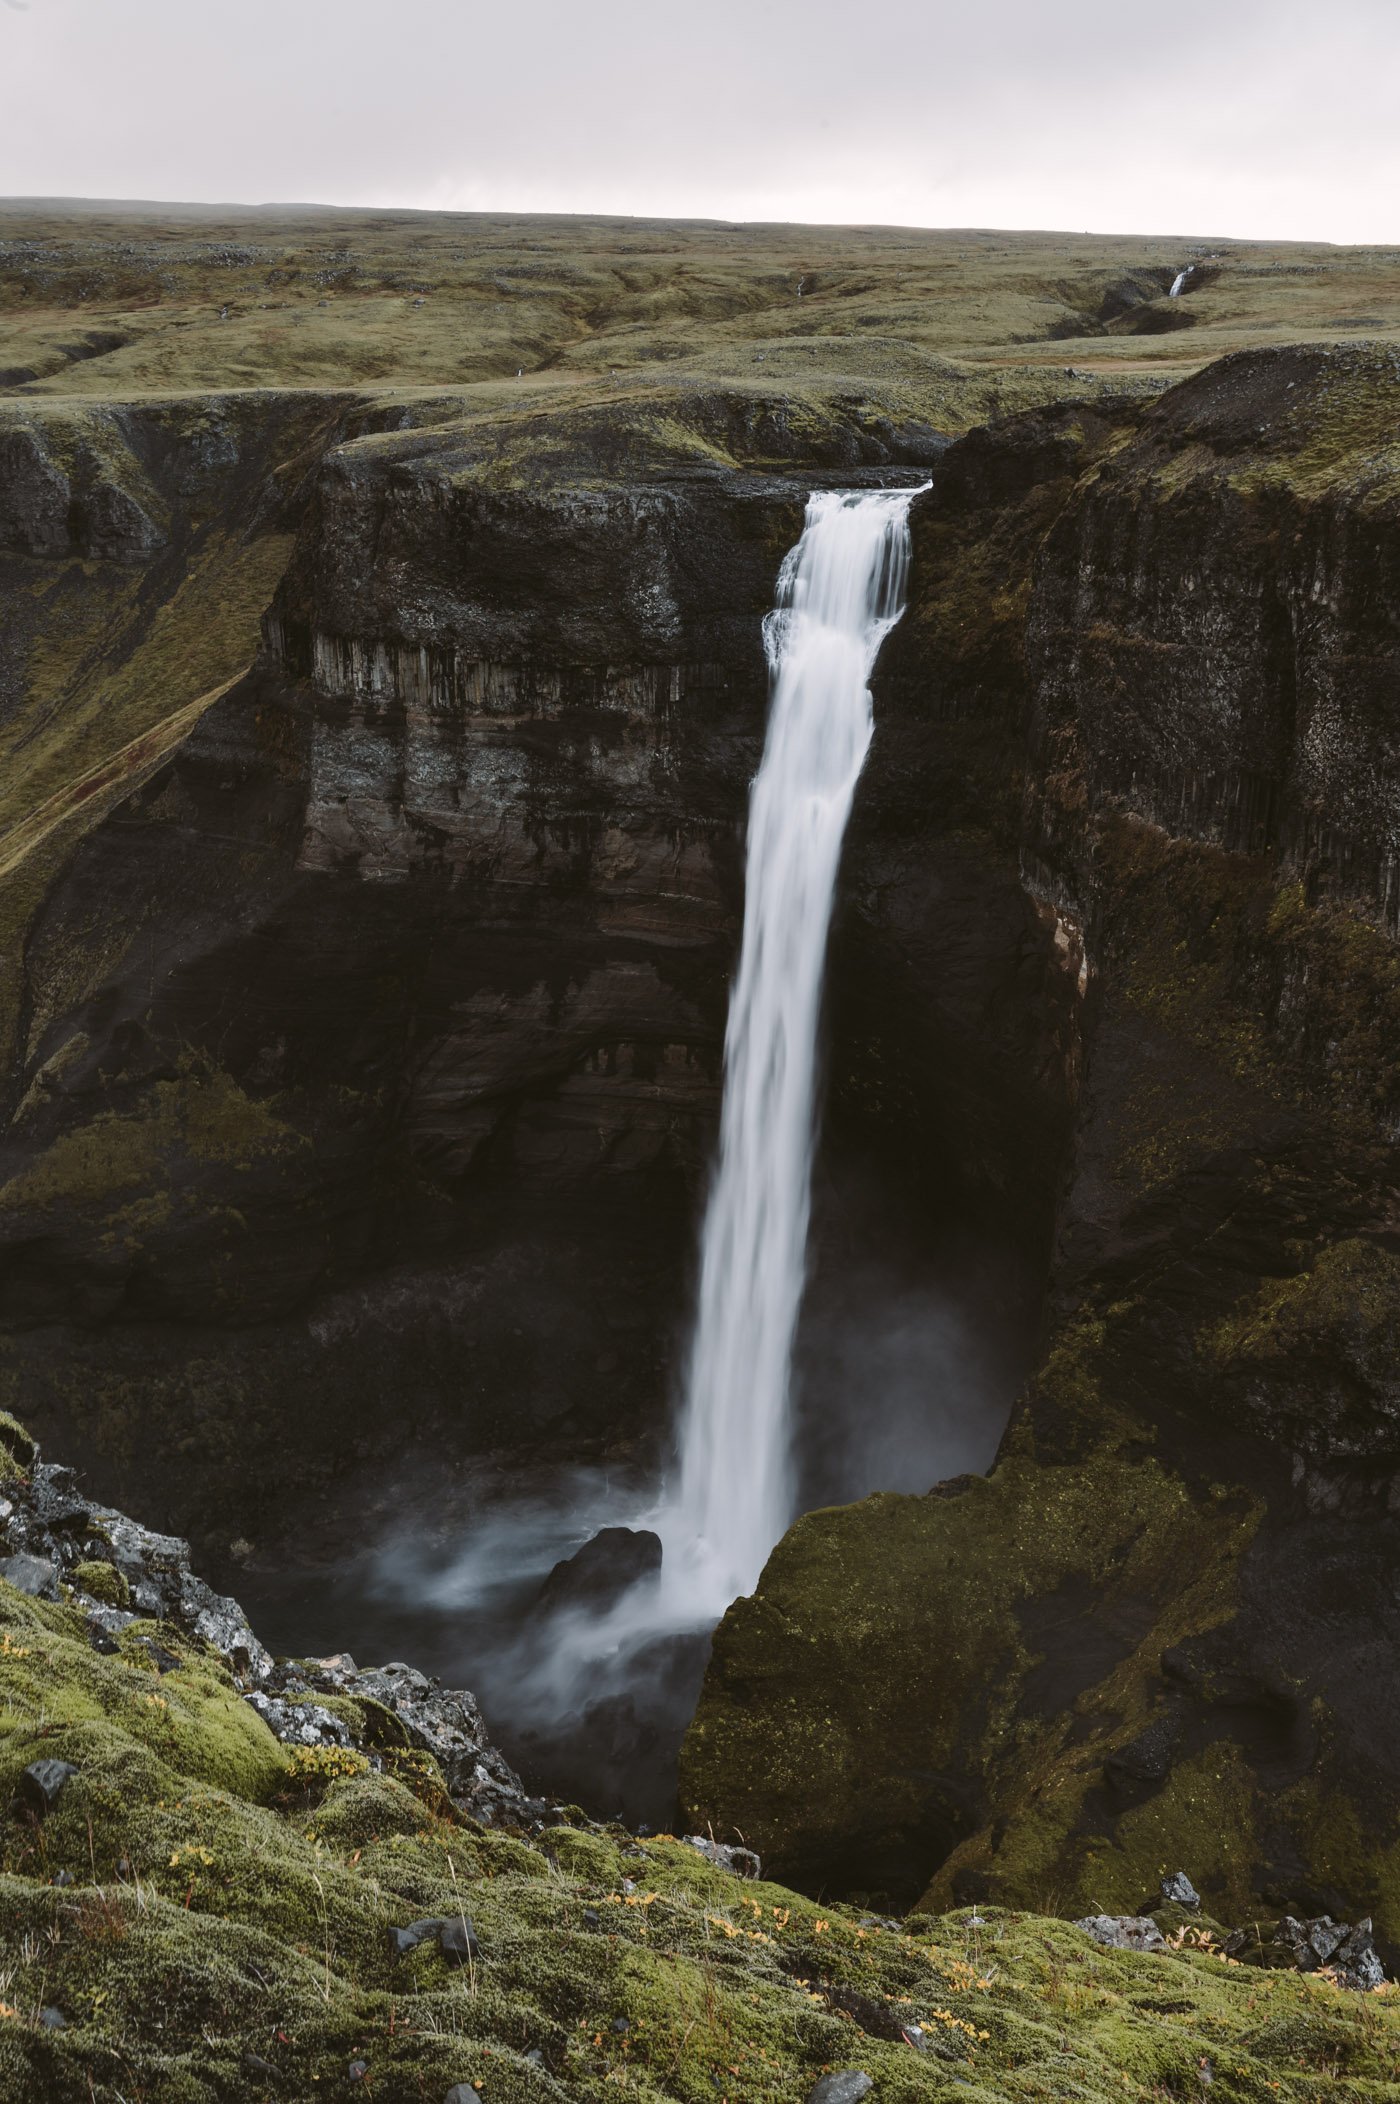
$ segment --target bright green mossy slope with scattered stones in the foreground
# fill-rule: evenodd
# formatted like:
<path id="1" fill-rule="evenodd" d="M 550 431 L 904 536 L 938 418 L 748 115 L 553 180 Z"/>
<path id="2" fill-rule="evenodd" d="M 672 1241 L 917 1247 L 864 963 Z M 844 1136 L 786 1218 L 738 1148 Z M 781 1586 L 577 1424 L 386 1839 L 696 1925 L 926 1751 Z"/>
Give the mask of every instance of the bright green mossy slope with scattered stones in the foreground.
<path id="1" fill-rule="evenodd" d="M 829 2066 L 867 2068 L 897 2104 L 1152 2104 L 1185 2093 L 1202 2054 L 1227 2104 L 1314 2104 L 1322 2066 L 1339 2100 L 1400 2096 L 1389 1997 L 1362 2007 L 1194 1948 L 1107 1953 L 987 1906 L 888 1929 L 672 1837 L 526 1843 L 375 1772 L 299 1807 L 280 1748 L 232 1757 L 267 1734 L 194 1647 L 156 1677 L 91 1652 L 67 1607 L 0 1586 L 0 1786 L 36 1751 L 78 1767 L 48 1818 L 4 1828 L 2 2096 L 223 2104 L 246 2054 L 295 2096 L 339 2096 L 364 2060 L 389 2104 L 463 2081 L 497 2104 L 800 2104 Z M 472 1967 L 436 1942 L 392 1957 L 392 1925 L 457 1913 L 482 1944 Z M 67 2028 L 42 2030 L 42 2005 Z M 899 2022 L 928 2047 L 863 2028 Z"/>

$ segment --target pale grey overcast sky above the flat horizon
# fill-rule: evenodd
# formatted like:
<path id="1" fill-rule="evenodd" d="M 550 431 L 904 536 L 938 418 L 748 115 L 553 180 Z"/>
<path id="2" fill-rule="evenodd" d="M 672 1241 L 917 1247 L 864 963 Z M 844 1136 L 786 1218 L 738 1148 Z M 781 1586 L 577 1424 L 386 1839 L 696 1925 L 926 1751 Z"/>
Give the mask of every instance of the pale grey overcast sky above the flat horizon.
<path id="1" fill-rule="evenodd" d="M 0 0 L 0 194 L 1400 242 L 1400 0 Z"/>

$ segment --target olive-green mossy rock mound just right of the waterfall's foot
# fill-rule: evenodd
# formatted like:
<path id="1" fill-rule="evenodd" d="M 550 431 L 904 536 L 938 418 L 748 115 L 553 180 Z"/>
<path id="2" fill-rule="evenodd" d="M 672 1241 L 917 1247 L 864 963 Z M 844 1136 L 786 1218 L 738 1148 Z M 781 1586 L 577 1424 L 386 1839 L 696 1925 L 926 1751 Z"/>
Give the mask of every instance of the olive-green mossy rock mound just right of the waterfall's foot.
<path id="1" fill-rule="evenodd" d="M 1051 1359 L 1072 1410 L 1093 1342 L 1076 1332 L 1063 1365 Z M 682 1803 L 701 1830 L 741 1833 L 798 1881 L 855 1885 L 861 1860 L 905 1879 L 943 1858 L 928 1904 L 975 1875 L 996 1900 L 1091 1910 L 1084 1799 L 1149 1721 L 1162 1650 L 1234 1612 L 1257 1515 L 1126 1448 L 1034 1460 L 1038 1408 L 1046 1393 L 996 1473 L 956 1496 L 867 1498 L 789 1530 L 716 1635 L 684 1742 Z M 1109 1584 L 1139 1603 L 1137 1633 L 1099 1639 L 1088 1671 L 1063 1662 L 1059 1631 Z M 1034 1690 L 1057 1647 L 1072 1700 L 1046 1715 Z M 973 1788 L 981 1812 L 958 1839 Z"/>

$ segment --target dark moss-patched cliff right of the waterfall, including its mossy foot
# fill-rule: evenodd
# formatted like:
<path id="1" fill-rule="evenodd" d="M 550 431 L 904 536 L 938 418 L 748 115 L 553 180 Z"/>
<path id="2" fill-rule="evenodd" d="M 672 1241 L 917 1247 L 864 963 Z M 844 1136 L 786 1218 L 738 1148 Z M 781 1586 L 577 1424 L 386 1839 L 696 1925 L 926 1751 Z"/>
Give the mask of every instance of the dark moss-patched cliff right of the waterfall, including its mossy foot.
<path id="1" fill-rule="evenodd" d="M 811 1515 L 722 1624 L 682 1803 L 779 1875 L 1097 1913 L 1177 1858 L 1400 1936 L 1398 379 L 1232 358 L 1046 448 L 968 600 L 1080 989 L 1051 1334 L 987 1481 Z"/>

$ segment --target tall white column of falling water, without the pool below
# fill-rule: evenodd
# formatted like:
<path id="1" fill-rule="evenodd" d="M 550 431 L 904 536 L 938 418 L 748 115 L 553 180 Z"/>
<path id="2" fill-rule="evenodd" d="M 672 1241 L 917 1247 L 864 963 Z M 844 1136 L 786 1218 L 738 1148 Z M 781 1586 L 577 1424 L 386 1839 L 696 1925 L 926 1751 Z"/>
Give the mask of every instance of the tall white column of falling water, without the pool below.
<path id="1" fill-rule="evenodd" d="M 701 1239 L 667 1591 L 722 1612 L 792 1519 L 792 1342 L 806 1269 L 817 1025 L 869 673 L 903 612 L 914 490 L 819 492 L 764 623 L 773 703 L 749 795 L 720 1157 Z M 676 1567 L 682 1563 L 682 1570 Z"/>

